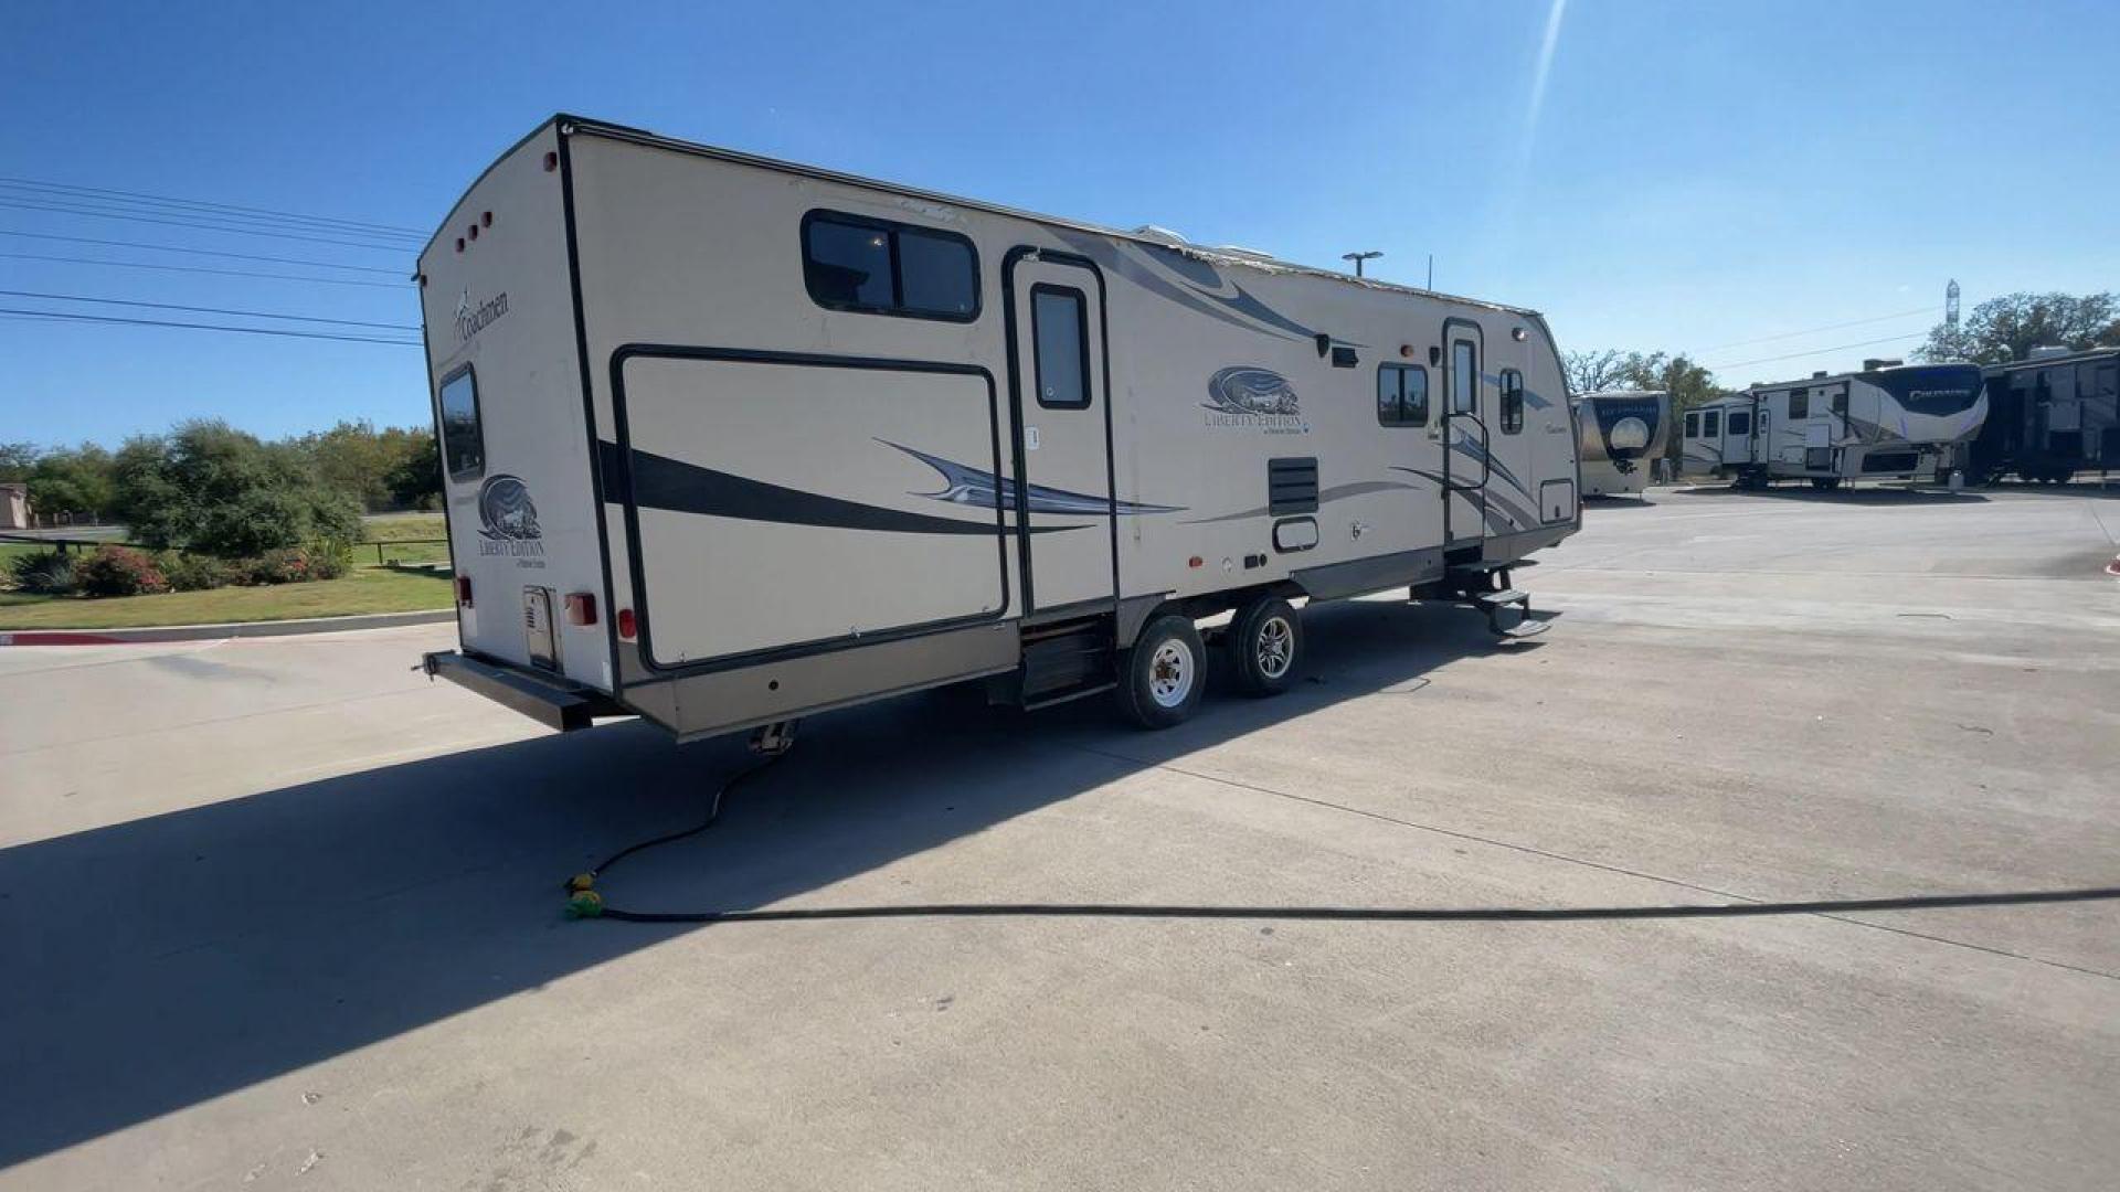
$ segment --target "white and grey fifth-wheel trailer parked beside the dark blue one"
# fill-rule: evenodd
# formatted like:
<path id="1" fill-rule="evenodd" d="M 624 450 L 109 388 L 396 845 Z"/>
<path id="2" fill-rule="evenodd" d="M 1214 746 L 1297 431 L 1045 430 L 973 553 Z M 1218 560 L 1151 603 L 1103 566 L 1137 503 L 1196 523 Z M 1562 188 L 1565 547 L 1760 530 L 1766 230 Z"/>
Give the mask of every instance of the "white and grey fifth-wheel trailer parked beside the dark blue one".
<path id="1" fill-rule="evenodd" d="M 1685 411 L 1683 471 L 1738 488 L 1948 479 L 1986 418 L 1976 365 L 1866 361 L 1859 373 L 1753 386 Z"/>

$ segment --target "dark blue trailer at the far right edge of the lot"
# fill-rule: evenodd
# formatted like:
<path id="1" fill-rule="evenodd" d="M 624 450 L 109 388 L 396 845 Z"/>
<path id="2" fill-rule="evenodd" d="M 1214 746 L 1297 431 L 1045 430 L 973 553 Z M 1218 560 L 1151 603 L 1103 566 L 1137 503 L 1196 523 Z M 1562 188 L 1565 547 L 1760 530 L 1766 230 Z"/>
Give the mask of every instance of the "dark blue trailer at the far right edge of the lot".
<path id="1" fill-rule="evenodd" d="M 2120 464 L 2120 348 L 2033 348 L 1984 373 L 1989 418 L 1967 464 L 1976 479 L 2059 484 Z"/>

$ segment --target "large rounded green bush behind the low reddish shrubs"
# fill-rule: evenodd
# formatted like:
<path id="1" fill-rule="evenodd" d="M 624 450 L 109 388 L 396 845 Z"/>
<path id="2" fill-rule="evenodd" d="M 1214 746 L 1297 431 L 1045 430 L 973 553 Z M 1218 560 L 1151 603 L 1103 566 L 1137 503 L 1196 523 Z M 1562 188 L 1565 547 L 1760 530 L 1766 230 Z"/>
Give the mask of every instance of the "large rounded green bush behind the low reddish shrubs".
<path id="1" fill-rule="evenodd" d="M 305 462 L 301 450 L 261 443 L 227 422 L 182 422 L 119 448 L 117 511 L 151 547 L 216 558 L 356 539 L 358 503 L 320 484 Z"/>

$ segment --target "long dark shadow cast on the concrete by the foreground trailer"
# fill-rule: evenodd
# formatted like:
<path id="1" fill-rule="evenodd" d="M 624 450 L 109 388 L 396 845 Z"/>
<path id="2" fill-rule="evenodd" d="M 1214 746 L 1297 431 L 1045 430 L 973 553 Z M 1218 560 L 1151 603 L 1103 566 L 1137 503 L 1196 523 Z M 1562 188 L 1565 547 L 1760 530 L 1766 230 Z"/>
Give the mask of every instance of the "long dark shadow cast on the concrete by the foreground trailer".
<path id="1" fill-rule="evenodd" d="M 1177 730 L 967 689 L 818 717 L 714 831 L 628 861 L 640 908 L 755 908 L 1497 643 L 1465 609 L 1312 609 L 1310 679 Z M 568 923 L 562 880 L 695 821 L 748 764 L 621 721 L 0 851 L 0 1169 L 681 935 Z M 1024 895 L 1026 891 L 1011 891 Z M 1032 891 L 1035 893 L 1035 876 Z M 1124 897 L 1124 891 L 1113 891 Z"/>

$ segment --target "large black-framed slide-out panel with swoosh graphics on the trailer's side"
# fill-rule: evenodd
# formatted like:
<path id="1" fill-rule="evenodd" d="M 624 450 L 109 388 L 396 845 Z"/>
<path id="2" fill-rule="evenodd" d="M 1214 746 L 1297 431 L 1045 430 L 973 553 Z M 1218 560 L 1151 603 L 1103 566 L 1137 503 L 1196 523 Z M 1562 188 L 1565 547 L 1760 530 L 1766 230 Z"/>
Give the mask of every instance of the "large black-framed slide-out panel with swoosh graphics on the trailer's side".
<path id="1" fill-rule="evenodd" d="M 621 352 L 619 456 L 651 666 L 755 662 L 1007 607 L 982 369 Z"/>

